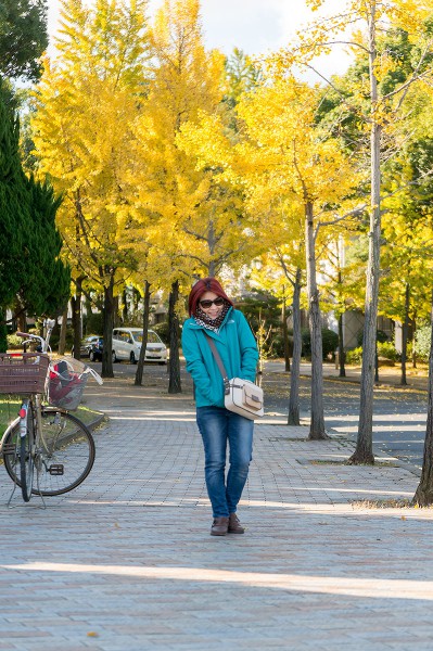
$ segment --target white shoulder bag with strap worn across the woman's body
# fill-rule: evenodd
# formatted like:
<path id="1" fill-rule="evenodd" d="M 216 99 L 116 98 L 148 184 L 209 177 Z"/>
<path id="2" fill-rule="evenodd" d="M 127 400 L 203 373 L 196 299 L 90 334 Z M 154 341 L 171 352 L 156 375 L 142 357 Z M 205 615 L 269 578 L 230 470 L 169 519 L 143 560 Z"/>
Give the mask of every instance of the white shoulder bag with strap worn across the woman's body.
<path id="1" fill-rule="evenodd" d="M 207 333 L 205 335 L 222 375 L 225 388 L 224 404 L 226 409 L 234 411 L 234 413 L 239 413 L 250 420 L 262 418 L 265 414 L 263 390 L 257 384 L 254 384 L 254 382 L 250 382 L 250 380 L 242 380 L 241 378 L 229 380 L 215 342 Z"/>

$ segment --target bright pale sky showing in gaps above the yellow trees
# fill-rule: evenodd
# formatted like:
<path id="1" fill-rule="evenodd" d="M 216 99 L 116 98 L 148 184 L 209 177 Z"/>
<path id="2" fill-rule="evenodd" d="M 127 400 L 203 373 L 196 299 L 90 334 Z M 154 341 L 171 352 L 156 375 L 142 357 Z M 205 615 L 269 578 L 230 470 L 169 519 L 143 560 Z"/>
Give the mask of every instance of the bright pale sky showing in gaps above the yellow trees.
<path id="1" fill-rule="evenodd" d="M 91 3 L 91 0 L 88 0 Z M 149 0 L 152 16 L 162 0 Z M 326 13 L 341 11 L 342 0 L 326 0 Z M 55 34 L 60 0 L 48 0 L 49 34 Z M 233 48 L 246 54 L 263 54 L 289 43 L 295 31 L 317 13 L 311 13 L 305 0 L 202 0 L 202 23 L 205 44 L 230 54 Z M 342 49 L 320 61 L 323 74 L 342 74 L 349 63 Z"/>

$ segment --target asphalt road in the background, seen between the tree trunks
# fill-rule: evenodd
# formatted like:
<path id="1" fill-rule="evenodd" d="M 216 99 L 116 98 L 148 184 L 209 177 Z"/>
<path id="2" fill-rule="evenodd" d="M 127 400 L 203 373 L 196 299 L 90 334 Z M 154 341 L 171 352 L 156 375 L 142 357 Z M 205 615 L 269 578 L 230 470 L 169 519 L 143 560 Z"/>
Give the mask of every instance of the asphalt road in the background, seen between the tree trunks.
<path id="1" fill-rule="evenodd" d="M 91 365 L 101 370 L 101 363 Z M 136 366 L 117 362 L 115 375 L 132 376 Z M 266 412 L 286 414 L 290 391 L 290 374 L 282 372 L 281 362 L 267 365 L 264 373 Z M 191 379 L 181 363 L 182 390 L 191 391 Z M 155 363 L 144 367 L 143 384 L 157 386 L 164 391 L 168 384 L 167 368 Z M 301 418 L 309 418 L 310 380 L 301 379 Z M 408 464 L 419 474 L 422 465 L 425 422 L 426 393 L 423 391 L 380 386 L 374 388 L 373 443 L 374 451 L 391 455 Z M 323 380 L 324 421 L 327 430 L 347 434 L 356 439 L 359 416 L 359 383 L 339 381 L 338 378 Z"/>

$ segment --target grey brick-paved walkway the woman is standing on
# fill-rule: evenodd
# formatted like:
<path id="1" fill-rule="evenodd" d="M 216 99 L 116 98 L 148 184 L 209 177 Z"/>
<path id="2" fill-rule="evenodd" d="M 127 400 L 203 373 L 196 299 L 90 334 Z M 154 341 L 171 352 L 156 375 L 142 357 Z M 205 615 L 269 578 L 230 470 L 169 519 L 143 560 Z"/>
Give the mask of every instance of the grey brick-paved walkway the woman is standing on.
<path id="1" fill-rule="evenodd" d="M 413 474 L 342 465 L 347 441 L 275 418 L 247 532 L 215 538 L 191 398 L 110 381 L 87 399 L 110 422 L 78 489 L 7 509 L 1 470 L 0 650 L 431 651 L 433 511 L 352 503 L 411 498 Z"/>

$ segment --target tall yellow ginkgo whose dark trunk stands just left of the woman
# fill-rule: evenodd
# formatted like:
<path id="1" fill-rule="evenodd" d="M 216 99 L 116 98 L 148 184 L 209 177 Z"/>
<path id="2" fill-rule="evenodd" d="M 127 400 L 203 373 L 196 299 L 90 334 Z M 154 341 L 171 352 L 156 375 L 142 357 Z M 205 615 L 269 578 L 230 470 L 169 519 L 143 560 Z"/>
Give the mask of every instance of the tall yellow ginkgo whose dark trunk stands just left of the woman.
<path id="1" fill-rule="evenodd" d="M 179 140 L 182 127 L 194 124 L 200 111 L 217 110 L 225 90 L 224 56 L 204 48 L 199 0 L 165 0 L 150 39 L 152 79 L 135 124 L 130 177 L 145 238 L 157 252 L 170 294 L 168 391 L 177 393 L 177 297 L 196 276 L 219 272 L 228 252 L 235 252 L 230 226 L 235 226 L 241 206 L 239 193 L 219 182 L 215 169 L 198 166 L 195 153 Z M 145 227 L 150 218 L 151 229 Z"/>

